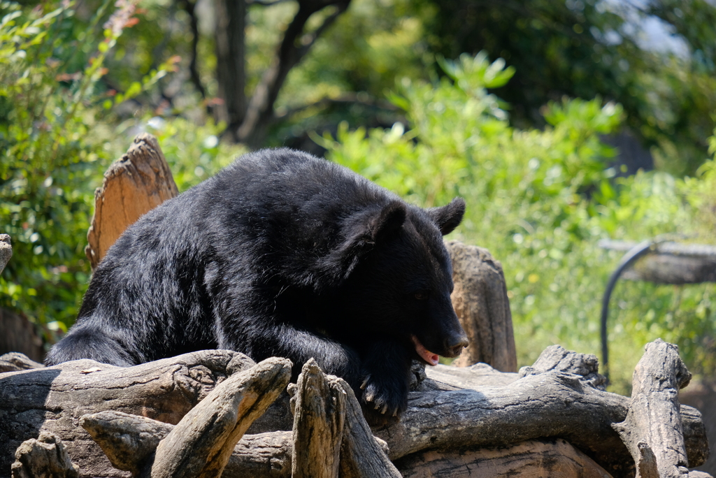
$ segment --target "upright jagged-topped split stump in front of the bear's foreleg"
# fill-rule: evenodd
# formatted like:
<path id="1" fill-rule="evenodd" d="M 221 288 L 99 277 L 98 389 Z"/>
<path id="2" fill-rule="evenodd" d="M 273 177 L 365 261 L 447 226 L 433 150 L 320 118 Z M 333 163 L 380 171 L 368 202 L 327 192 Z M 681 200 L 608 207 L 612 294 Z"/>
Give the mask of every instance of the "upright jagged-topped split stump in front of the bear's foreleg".
<path id="1" fill-rule="evenodd" d="M 296 381 L 292 478 L 337 478 L 346 394 L 311 358 Z"/>

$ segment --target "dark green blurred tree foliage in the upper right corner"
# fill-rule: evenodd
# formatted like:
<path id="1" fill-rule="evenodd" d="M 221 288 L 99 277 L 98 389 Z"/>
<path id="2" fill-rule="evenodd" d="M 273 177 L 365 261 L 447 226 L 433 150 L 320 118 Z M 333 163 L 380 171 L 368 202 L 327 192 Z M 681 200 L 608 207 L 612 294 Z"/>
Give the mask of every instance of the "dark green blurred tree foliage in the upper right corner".
<path id="1" fill-rule="evenodd" d="M 601 95 L 624 105 L 629 129 L 661 150 L 662 168 L 692 173 L 706 159 L 716 109 L 713 4 L 657 0 L 639 9 L 604 0 L 425 1 L 437 8 L 426 19 L 435 52 L 456 57 L 484 50 L 516 68 L 496 91 L 512 105 L 514 125 L 542 126 L 542 105 L 564 95 Z M 657 18 L 675 51 L 655 51 L 644 38 L 642 27 Z"/>

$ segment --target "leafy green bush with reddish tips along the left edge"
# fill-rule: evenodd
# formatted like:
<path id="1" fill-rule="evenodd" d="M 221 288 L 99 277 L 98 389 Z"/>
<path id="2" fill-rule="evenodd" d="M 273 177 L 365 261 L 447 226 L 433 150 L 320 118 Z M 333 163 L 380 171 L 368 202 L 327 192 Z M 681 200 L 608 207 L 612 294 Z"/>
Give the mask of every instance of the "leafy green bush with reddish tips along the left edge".
<path id="1" fill-rule="evenodd" d="M 105 93 L 105 60 L 133 11 L 134 4 L 120 4 L 96 37 L 90 29 L 84 41 L 95 53 L 70 73 L 71 4 L 30 12 L 0 4 L 0 225 L 14 250 L 0 275 L 0 306 L 25 313 L 47 338 L 77 315 L 89 276 L 84 245 L 92 191 L 126 147 L 117 145 L 122 138 L 100 105 L 135 97 L 170 67 L 132 84 L 121 97 Z"/>

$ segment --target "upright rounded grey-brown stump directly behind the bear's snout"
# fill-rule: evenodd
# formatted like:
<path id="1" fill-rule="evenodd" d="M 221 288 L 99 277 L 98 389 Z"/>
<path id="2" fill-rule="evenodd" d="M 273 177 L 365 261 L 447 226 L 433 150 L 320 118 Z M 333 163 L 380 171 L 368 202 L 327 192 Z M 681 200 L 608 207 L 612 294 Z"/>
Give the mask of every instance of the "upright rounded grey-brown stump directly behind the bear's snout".
<path id="1" fill-rule="evenodd" d="M 517 371 L 517 352 L 505 275 L 487 249 L 458 241 L 446 243 L 453 263 L 451 296 L 470 345 L 453 362 L 478 362 L 504 372 Z"/>

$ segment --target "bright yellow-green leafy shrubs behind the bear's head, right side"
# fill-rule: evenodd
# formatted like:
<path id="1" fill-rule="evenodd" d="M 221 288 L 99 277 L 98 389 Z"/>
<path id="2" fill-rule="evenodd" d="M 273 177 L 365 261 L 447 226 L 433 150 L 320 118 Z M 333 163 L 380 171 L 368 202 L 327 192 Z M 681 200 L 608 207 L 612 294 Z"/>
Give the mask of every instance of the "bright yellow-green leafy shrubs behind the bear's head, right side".
<path id="1" fill-rule="evenodd" d="M 599 135 L 619 127 L 619 104 L 551 103 L 545 130 L 518 130 L 487 90 L 511 76 L 504 62 L 479 54 L 442 64 L 453 81 L 403 80 L 391 97 L 410 130 L 396 123 L 351 132 L 344 124 L 336 139 L 316 140 L 330 159 L 414 203 L 465 197 L 458 238 L 503 263 L 522 365 L 551 343 L 599 353 L 601 295 L 619 260 L 599 239 L 695 230 L 689 188 L 666 173 L 610 179 L 606 161 L 614 151 Z M 715 293 L 713 286 L 620 283 L 610 319 L 616 389 L 627 389 L 641 346 L 659 335 L 679 343 L 697 373 L 716 365 L 708 358 Z"/>

